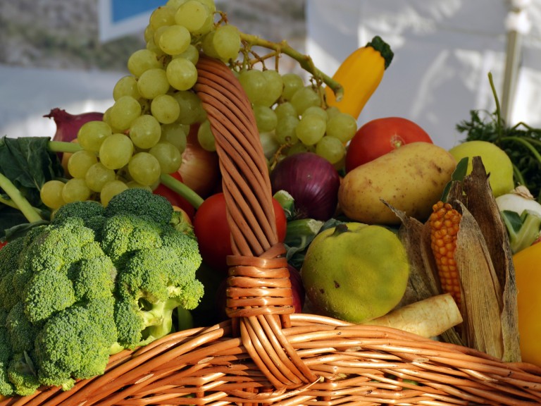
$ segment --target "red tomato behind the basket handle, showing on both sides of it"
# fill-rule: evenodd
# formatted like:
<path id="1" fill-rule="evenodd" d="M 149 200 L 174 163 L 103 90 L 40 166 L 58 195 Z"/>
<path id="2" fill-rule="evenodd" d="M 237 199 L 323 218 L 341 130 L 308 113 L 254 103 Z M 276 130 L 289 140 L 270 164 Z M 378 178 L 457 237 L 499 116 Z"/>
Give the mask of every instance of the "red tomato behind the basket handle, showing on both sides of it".
<path id="1" fill-rule="evenodd" d="M 273 198 L 273 205 L 278 240 L 282 242 L 285 238 L 287 220 L 278 200 Z M 194 233 L 199 242 L 203 261 L 217 271 L 227 272 L 225 260 L 233 252 L 223 192 L 207 197 L 199 206 L 194 216 Z"/>

